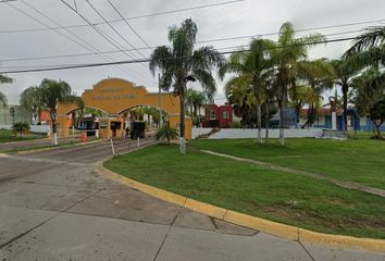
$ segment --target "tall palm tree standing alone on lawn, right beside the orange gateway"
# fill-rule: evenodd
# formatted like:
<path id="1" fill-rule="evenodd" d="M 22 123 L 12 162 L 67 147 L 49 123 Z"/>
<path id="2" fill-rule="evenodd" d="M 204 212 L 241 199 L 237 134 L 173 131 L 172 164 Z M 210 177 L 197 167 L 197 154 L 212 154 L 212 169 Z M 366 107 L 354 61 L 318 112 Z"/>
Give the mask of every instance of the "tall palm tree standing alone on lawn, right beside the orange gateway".
<path id="1" fill-rule="evenodd" d="M 169 40 L 172 46 L 158 47 L 150 58 L 150 71 L 162 71 L 160 86 L 163 90 L 173 87 L 174 94 L 181 100 L 181 153 L 185 153 L 185 103 L 187 83 L 199 80 L 207 96 L 212 99 L 216 91 L 212 67 L 221 65 L 223 57 L 213 47 L 201 47 L 195 50 L 197 25 L 191 18 L 182 23 L 181 27 L 169 29 Z"/>

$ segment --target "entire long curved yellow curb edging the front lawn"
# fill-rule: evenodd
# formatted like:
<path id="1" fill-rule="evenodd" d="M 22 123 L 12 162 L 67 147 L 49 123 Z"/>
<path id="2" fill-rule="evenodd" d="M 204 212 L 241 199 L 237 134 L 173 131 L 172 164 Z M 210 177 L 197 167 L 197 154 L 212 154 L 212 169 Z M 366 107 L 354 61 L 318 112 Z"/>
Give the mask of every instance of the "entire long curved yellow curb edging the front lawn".
<path id="1" fill-rule="evenodd" d="M 141 192 L 148 194 L 164 201 L 182 206 L 184 208 L 227 221 L 229 223 L 257 229 L 270 235 L 282 238 L 296 240 L 300 243 L 321 244 L 332 247 L 344 247 L 352 249 L 374 250 L 385 252 L 385 240 L 372 238 L 358 238 L 352 236 L 331 235 L 302 229 L 296 226 L 285 225 L 282 223 L 264 220 L 261 217 L 243 214 L 236 211 L 226 210 L 213 204 L 200 202 L 177 194 L 173 194 L 160 188 L 156 188 L 128 177 L 116 174 L 103 166 L 105 160 L 100 161 L 96 165 L 96 171 L 99 174 L 105 175 L 109 178 L 135 188 Z"/>

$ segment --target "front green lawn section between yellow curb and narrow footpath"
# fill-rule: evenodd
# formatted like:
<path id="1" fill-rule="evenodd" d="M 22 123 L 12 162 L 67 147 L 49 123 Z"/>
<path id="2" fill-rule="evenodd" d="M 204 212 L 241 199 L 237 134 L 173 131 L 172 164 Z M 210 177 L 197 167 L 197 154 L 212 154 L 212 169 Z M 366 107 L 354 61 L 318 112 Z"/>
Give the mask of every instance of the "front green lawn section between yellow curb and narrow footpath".
<path id="1" fill-rule="evenodd" d="M 385 199 L 176 146 L 119 156 L 104 166 L 192 199 L 302 228 L 385 238 Z"/>

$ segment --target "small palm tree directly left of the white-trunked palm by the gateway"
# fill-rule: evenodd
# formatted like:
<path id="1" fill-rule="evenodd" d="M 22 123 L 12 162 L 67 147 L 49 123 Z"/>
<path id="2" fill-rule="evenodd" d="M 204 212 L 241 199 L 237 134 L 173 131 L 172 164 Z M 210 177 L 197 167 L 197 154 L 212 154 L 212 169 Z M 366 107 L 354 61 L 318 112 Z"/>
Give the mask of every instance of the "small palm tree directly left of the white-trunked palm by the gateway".
<path id="1" fill-rule="evenodd" d="M 32 111 L 34 115 L 34 123 L 39 120 L 41 112 L 41 94 L 38 86 L 30 86 L 23 90 L 20 96 L 20 104 L 27 111 Z"/>

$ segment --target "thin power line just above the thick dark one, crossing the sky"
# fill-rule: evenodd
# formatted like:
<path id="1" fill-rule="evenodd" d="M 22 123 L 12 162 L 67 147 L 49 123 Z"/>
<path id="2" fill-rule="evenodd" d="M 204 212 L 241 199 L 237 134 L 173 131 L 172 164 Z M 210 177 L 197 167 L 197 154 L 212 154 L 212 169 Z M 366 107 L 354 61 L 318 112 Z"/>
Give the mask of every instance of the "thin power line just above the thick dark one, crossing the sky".
<path id="1" fill-rule="evenodd" d="M 348 30 L 348 32 L 340 32 L 340 33 L 333 33 L 333 34 L 326 34 L 324 36 L 337 36 L 337 35 L 346 35 L 346 34 L 353 34 L 353 33 L 362 33 L 363 30 Z M 196 44 L 207 44 L 207 42 L 218 42 L 218 41 L 228 41 L 232 39 L 250 39 L 253 37 L 257 37 L 260 35 L 247 35 L 247 36 L 237 36 L 237 37 L 227 37 L 227 38 L 219 38 L 219 39 L 208 39 L 208 40 L 202 40 L 202 41 L 197 41 Z M 171 45 L 166 45 L 171 46 Z M 236 47 L 245 47 L 245 46 L 233 46 L 233 47 L 223 47 L 225 48 L 236 48 Z M 157 47 L 150 47 L 151 49 L 154 49 Z M 148 50 L 149 48 L 142 47 L 142 48 L 137 48 L 138 50 Z M 216 48 L 216 49 L 222 49 L 222 48 Z M 125 49 L 125 51 L 133 51 L 134 49 Z M 100 51 L 100 53 L 108 54 L 108 53 L 120 53 L 121 51 Z M 95 52 L 88 52 L 88 53 L 73 53 L 73 54 L 62 54 L 62 55 L 47 55 L 47 57 L 32 57 L 32 58 L 18 58 L 18 59 L 4 59 L 1 60 L 1 62 L 17 62 L 17 61 L 35 61 L 35 60 L 47 60 L 47 59 L 60 59 L 60 58 L 72 58 L 72 57 L 89 57 L 89 55 L 96 55 Z"/>

